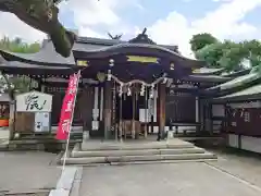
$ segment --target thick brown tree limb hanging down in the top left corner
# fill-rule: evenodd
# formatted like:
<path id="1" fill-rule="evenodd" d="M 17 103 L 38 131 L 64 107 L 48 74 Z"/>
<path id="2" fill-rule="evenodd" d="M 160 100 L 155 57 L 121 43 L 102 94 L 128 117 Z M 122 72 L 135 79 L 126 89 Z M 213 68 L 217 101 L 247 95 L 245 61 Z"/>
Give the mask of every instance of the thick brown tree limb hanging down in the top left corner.
<path id="1" fill-rule="evenodd" d="M 76 35 L 60 23 L 58 3 L 61 0 L 0 0 L 0 11 L 15 14 L 20 20 L 48 34 L 55 51 L 67 58 Z"/>

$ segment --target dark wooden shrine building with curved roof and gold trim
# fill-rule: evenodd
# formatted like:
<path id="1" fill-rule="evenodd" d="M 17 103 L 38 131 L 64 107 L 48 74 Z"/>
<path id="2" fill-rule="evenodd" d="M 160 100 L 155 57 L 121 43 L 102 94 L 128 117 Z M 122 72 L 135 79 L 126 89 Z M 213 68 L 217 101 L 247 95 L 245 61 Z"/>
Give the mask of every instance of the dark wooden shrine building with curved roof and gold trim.
<path id="1" fill-rule="evenodd" d="M 0 54 L 2 73 L 29 77 L 32 89 L 52 95 L 52 132 L 69 76 L 80 70 L 72 133 L 88 131 L 90 138 L 103 139 L 213 134 L 215 123 L 220 132 L 211 100 L 220 86 L 245 74 L 221 75 L 222 69 L 183 57 L 177 46 L 157 45 L 146 30 L 128 41 L 78 37 L 69 58 L 49 39 L 37 53 Z M 25 123 L 14 132 L 32 130 Z"/>

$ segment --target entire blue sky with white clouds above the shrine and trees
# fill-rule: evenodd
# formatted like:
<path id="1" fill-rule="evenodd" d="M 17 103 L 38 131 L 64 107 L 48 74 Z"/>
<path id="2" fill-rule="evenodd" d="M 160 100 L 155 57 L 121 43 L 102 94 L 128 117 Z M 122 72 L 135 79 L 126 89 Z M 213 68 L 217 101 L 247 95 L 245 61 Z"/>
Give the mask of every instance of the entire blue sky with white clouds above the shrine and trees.
<path id="1" fill-rule="evenodd" d="M 178 45 L 184 56 L 190 56 L 189 39 L 198 33 L 221 40 L 261 39 L 260 12 L 261 0 L 67 0 L 60 4 L 60 20 L 80 36 L 108 37 L 110 32 L 130 39 L 147 27 L 156 42 Z M 3 35 L 30 41 L 46 36 L 12 14 L 0 13 Z"/>

